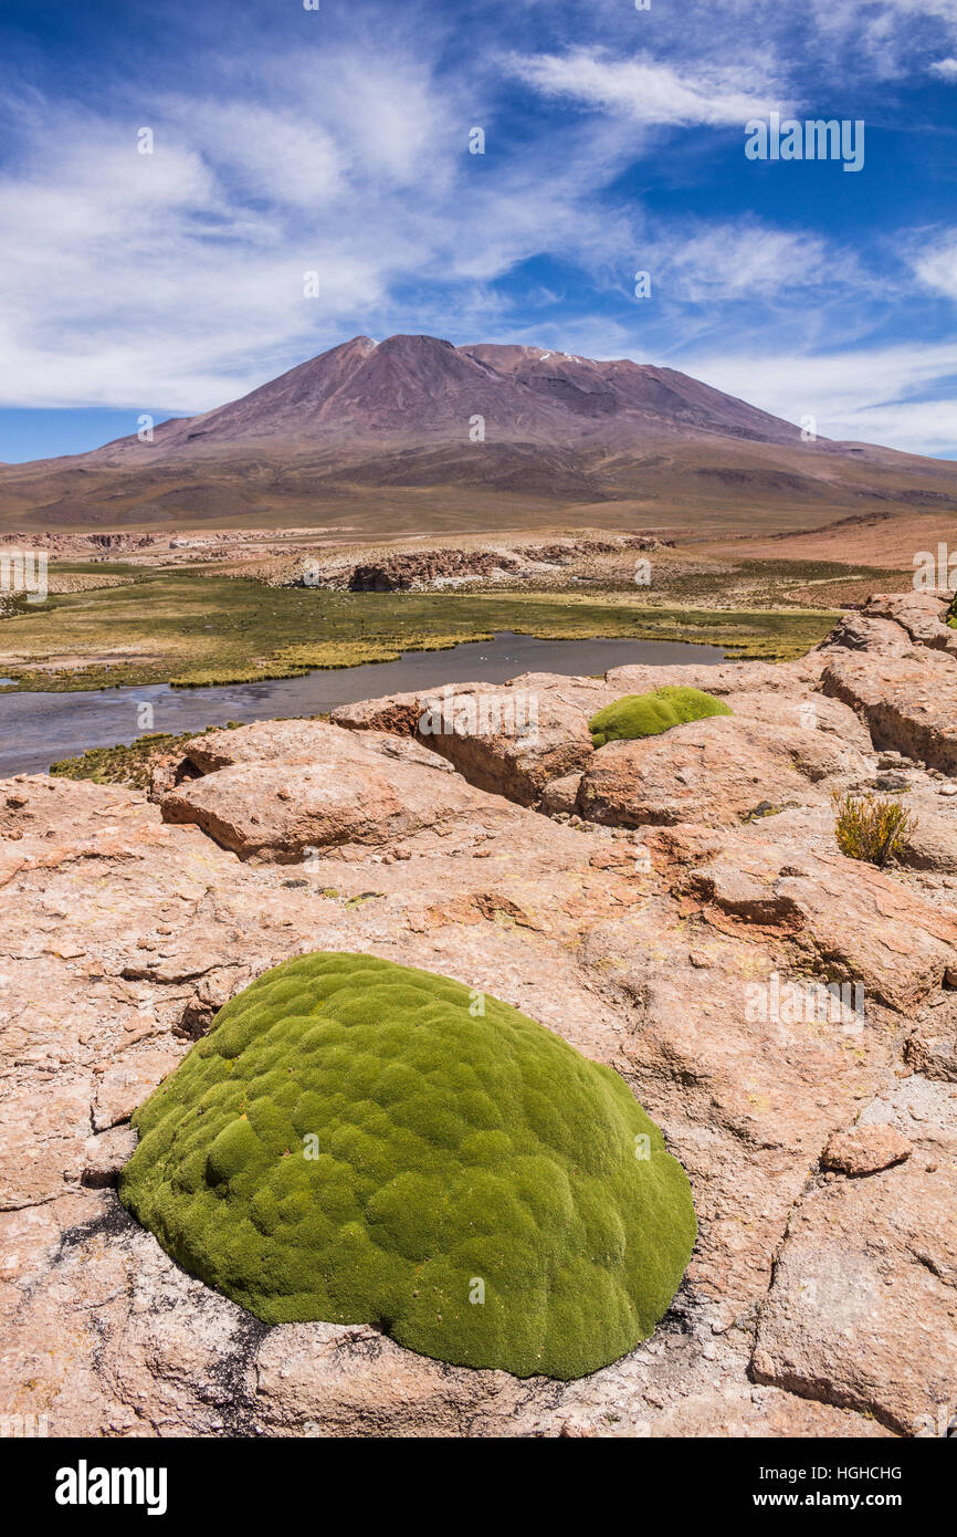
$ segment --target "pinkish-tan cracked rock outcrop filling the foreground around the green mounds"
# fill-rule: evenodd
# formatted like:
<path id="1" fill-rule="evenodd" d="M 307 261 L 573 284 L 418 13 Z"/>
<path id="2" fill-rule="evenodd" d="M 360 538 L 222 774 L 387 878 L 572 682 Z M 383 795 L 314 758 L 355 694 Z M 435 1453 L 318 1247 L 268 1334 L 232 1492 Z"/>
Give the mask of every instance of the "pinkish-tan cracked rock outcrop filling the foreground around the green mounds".
<path id="1" fill-rule="evenodd" d="M 421 696 L 207 733 L 158 804 L 0 785 L 8 1411 L 52 1436 L 945 1434 L 957 785 L 929 739 L 876 745 L 860 701 L 886 676 L 903 709 L 908 669 L 916 712 L 957 661 L 883 603 L 800 664 L 682 669 L 734 713 L 598 753 L 588 716 L 674 669 L 481 690 L 498 732 L 467 686 L 449 733 Z M 839 853 L 830 793 L 882 782 L 926 832 L 879 871 Z M 118 1207 L 132 1110 L 238 988 L 318 948 L 488 990 L 625 1076 L 699 1217 L 651 1340 L 555 1383 L 266 1328 Z"/>

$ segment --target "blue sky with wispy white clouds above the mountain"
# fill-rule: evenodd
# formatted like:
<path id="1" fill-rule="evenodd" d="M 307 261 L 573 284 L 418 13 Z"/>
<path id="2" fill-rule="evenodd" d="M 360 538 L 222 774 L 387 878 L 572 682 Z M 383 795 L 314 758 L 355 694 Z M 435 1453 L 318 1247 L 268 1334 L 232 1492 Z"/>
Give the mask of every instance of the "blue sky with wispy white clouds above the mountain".
<path id="1" fill-rule="evenodd" d="M 957 0 L 312 3 L 5 0 L 0 461 L 395 332 L 957 458 Z"/>

